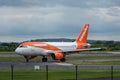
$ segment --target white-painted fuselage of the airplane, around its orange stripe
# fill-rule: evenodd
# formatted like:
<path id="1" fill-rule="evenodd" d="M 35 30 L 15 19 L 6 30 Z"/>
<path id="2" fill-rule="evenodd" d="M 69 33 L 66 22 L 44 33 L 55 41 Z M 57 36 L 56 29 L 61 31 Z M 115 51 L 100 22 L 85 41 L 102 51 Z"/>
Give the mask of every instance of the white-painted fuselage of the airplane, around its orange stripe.
<path id="1" fill-rule="evenodd" d="M 33 46 L 19 46 L 15 52 L 19 55 L 49 55 L 55 50 L 46 49 L 47 44 L 50 44 L 61 51 L 76 50 L 76 42 L 45 42 L 46 44 L 34 44 Z M 41 47 L 42 46 L 42 47 Z M 52 48 L 52 47 L 51 47 Z M 58 50 L 57 50 L 58 51 Z"/>

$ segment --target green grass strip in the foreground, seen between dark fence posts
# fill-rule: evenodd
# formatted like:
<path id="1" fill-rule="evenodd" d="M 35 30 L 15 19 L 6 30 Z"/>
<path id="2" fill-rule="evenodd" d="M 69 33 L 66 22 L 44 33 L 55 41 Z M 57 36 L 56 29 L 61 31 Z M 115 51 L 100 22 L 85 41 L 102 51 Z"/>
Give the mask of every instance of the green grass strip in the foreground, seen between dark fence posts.
<path id="1" fill-rule="evenodd" d="M 45 70 L 15 70 L 14 80 L 46 80 Z M 120 70 L 114 71 L 114 78 L 120 78 Z M 78 80 L 110 78 L 110 70 L 78 70 Z M 75 70 L 49 70 L 49 80 L 75 80 Z M 0 70 L 0 80 L 11 80 L 10 70 Z"/>

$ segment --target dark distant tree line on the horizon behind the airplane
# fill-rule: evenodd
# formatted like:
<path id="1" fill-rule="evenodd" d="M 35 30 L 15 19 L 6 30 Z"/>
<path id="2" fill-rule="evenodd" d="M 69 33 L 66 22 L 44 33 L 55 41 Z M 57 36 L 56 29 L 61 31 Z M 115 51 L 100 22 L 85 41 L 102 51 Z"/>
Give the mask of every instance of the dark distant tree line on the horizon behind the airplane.
<path id="1" fill-rule="evenodd" d="M 69 42 L 74 41 L 75 39 L 36 39 L 31 41 L 50 41 L 50 42 Z M 27 42 L 27 41 L 25 41 Z M 102 41 L 102 40 L 88 40 L 88 43 L 91 43 L 91 47 L 101 47 L 105 48 L 108 51 L 120 51 L 120 41 Z M 20 43 L 11 42 L 11 43 L 0 43 L 0 51 L 15 51 Z"/>

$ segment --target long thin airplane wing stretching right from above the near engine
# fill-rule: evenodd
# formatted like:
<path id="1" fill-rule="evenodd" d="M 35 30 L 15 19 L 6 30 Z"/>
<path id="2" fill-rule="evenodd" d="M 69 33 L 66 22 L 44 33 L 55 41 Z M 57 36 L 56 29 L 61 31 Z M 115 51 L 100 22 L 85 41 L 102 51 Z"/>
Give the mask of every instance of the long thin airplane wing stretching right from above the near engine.
<path id="1" fill-rule="evenodd" d="M 96 50 L 102 50 L 102 48 L 85 48 L 85 49 L 66 50 L 66 51 L 59 51 L 59 52 L 70 54 L 70 53 L 77 53 L 77 52 L 84 52 L 84 51 L 96 51 Z"/>

